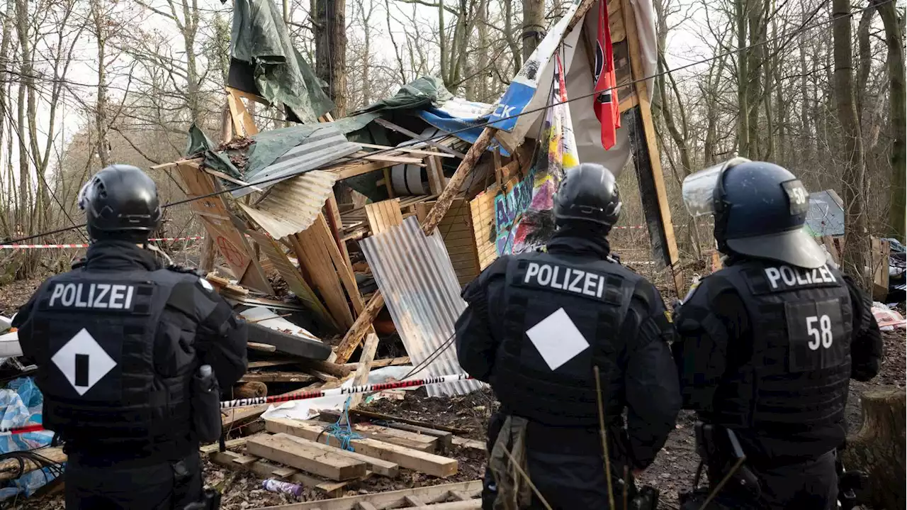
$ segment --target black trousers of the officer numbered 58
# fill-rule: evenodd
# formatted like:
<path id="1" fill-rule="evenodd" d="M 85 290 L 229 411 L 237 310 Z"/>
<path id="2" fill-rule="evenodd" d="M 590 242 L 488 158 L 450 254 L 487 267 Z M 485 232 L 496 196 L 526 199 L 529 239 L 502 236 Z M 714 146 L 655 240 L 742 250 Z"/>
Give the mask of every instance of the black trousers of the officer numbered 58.
<path id="1" fill-rule="evenodd" d="M 834 469 L 834 452 L 814 460 L 787 466 L 750 467 L 759 479 L 762 497 L 752 501 L 725 488 L 707 510 L 744 508 L 757 510 L 834 510 L 837 508 L 838 476 Z M 699 508 L 696 503 L 685 505 Z"/>

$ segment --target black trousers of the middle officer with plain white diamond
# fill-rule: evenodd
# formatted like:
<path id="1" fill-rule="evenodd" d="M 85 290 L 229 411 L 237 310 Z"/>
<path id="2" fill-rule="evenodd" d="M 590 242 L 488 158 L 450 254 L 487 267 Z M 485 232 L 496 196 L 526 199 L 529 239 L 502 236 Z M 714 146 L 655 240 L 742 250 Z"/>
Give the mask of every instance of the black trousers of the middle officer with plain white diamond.
<path id="1" fill-rule="evenodd" d="M 496 413 L 488 424 L 487 449 L 492 451 L 506 415 Z M 526 464 L 532 484 L 553 510 L 594 508 L 608 510 L 608 482 L 601 455 L 598 429 L 552 428 L 530 423 L 526 429 Z M 612 473 L 622 473 L 623 464 L 612 456 Z M 627 493 L 632 499 L 636 485 L 628 476 Z M 615 505 L 622 508 L 623 485 L 618 476 L 611 477 Z M 492 510 L 497 487 L 491 470 L 485 467 L 482 509 Z M 535 493 L 527 510 L 544 510 L 546 506 Z"/>

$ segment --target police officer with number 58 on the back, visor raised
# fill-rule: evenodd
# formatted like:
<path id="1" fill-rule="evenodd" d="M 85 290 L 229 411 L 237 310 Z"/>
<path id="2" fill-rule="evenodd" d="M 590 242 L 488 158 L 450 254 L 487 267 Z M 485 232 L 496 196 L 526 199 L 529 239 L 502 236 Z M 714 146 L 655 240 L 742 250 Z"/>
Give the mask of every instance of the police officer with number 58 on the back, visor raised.
<path id="1" fill-rule="evenodd" d="M 717 507 L 836 508 L 849 381 L 873 378 L 882 356 L 872 303 L 803 229 L 809 193 L 791 172 L 735 158 L 683 194 L 694 215 L 714 213 L 726 255 L 674 318 L 697 449 L 713 487 L 731 473 Z"/>

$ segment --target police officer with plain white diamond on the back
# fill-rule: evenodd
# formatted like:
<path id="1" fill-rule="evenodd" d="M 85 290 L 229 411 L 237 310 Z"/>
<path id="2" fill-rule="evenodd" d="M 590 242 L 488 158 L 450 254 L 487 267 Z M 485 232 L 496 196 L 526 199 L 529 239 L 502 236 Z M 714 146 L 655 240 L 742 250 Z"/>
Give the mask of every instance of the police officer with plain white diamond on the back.
<path id="1" fill-rule="evenodd" d="M 490 383 L 501 402 L 489 424 L 486 510 L 498 507 L 498 495 L 512 498 L 513 480 L 494 469 L 496 458 L 509 460 L 496 447 L 504 435 L 514 458 L 521 457 L 514 445 L 524 445 L 532 483 L 551 508 L 608 508 L 609 485 L 622 507 L 625 472 L 649 466 L 674 428 L 680 397 L 668 348 L 673 332 L 658 289 L 609 255 L 607 235 L 619 212 L 611 172 L 590 163 L 571 168 L 555 197 L 558 230 L 546 252 L 495 260 L 463 290 L 460 365 Z M 630 498 L 633 475 L 626 478 Z M 524 483 L 521 490 L 525 495 Z M 544 508 L 531 499 L 528 507 Z"/>

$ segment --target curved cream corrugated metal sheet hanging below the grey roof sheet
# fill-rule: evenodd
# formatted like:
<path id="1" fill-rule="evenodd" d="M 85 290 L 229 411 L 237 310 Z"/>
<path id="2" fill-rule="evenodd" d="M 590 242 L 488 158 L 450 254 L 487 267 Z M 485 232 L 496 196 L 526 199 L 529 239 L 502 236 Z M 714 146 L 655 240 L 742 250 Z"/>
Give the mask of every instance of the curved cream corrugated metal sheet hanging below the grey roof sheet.
<path id="1" fill-rule="evenodd" d="M 275 184 L 255 206 L 239 207 L 274 239 L 306 230 L 333 192 L 336 174 L 313 170 Z"/>

